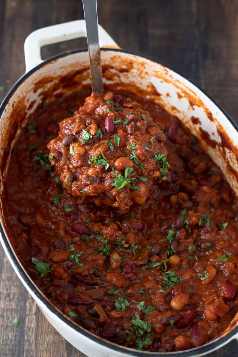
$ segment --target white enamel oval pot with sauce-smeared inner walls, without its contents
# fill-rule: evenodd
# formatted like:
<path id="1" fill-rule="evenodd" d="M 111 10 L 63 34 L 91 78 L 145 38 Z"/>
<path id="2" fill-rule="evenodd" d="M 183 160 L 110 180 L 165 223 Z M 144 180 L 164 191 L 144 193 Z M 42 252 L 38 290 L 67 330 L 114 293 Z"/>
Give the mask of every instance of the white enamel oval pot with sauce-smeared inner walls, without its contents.
<path id="1" fill-rule="evenodd" d="M 0 107 L 1 243 L 12 267 L 46 318 L 78 350 L 90 357 L 167 355 L 124 348 L 75 325 L 42 295 L 11 246 L 2 205 L 11 149 L 22 127 L 42 100 L 52 100 L 59 94 L 68 94 L 90 85 L 86 49 L 66 52 L 43 62 L 40 47 L 77 37 L 86 37 L 83 20 L 46 27 L 30 34 L 25 41 L 26 74 L 12 87 Z M 227 113 L 204 91 L 176 71 L 147 57 L 118 49 L 101 26 L 99 37 L 101 46 L 111 47 L 101 50 L 105 88 L 151 97 L 168 112 L 178 116 L 221 167 L 233 190 L 238 192 L 238 127 Z M 221 336 L 207 345 L 168 354 L 202 356 L 234 338 L 238 339 L 238 317 Z"/>

